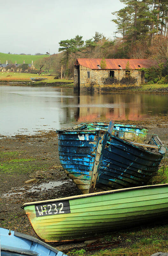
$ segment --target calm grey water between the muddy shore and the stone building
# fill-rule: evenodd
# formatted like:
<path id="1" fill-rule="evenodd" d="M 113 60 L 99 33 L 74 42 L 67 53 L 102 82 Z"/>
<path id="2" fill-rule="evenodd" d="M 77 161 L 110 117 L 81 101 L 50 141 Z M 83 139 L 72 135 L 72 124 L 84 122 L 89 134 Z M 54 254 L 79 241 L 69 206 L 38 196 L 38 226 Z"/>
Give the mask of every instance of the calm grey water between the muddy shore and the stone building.
<path id="1" fill-rule="evenodd" d="M 0 134 L 33 134 L 95 118 L 142 120 L 168 113 L 168 95 L 81 93 L 56 87 L 0 86 Z"/>

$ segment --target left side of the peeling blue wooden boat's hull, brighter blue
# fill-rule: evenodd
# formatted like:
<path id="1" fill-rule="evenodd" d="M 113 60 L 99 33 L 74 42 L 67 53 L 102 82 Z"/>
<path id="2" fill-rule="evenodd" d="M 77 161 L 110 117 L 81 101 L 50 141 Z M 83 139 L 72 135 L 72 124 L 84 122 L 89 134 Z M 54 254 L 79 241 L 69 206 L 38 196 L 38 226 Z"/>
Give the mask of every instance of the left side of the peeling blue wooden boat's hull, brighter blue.
<path id="1" fill-rule="evenodd" d="M 58 133 L 60 163 L 83 194 L 89 192 L 101 131 Z"/>

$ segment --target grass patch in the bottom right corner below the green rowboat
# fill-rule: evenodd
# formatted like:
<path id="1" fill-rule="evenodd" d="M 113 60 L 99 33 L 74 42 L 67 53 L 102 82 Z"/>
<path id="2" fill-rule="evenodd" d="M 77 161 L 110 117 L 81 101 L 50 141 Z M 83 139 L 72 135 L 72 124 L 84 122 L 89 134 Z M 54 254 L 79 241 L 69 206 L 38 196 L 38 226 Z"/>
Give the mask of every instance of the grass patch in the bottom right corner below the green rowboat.
<path id="1" fill-rule="evenodd" d="M 103 249 L 90 254 L 87 249 L 85 255 L 92 256 L 150 256 L 156 252 L 168 251 L 168 225 L 153 228 L 142 228 L 130 232 L 120 232 L 105 236 L 103 241 L 120 240 L 118 248 Z M 104 243 L 103 243 L 104 244 Z M 102 244 L 102 245 L 103 245 Z M 105 245 L 106 246 L 106 245 Z M 73 254 L 72 254 L 73 255 Z"/>

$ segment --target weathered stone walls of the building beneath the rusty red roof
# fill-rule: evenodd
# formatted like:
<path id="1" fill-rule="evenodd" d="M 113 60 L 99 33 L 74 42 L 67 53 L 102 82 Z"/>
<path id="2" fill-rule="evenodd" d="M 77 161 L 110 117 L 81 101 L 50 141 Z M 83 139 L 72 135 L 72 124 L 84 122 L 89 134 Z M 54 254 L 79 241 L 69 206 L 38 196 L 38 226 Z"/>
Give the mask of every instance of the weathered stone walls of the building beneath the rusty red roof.
<path id="1" fill-rule="evenodd" d="M 139 86 L 145 82 L 144 71 L 130 70 L 130 75 L 126 70 L 114 70 L 114 77 L 110 77 L 110 70 L 89 69 L 78 66 L 80 70 L 80 90 L 94 91 L 96 88 L 105 89 L 112 85 L 136 85 Z M 90 78 L 87 78 L 87 71 L 90 71 Z M 78 69 L 74 68 L 74 88 L 78 88 Z"/>

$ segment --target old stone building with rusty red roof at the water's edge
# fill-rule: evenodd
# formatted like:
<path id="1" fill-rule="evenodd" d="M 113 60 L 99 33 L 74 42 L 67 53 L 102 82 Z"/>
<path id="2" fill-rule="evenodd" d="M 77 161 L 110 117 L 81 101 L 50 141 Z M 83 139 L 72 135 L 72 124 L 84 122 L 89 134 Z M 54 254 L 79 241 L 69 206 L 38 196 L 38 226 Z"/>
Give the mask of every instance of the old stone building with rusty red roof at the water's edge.
<path id="1" fill-rule="evenodd" d="M 74 89 L 80 91 L 110 90 L 114 85 L 144 84 L 141 68 L 156 66 L 155 60 L 148 59 L 105 59 L 106 68 L 101 68 L 102 59 L 81 59 L 75 61 Z"/>

